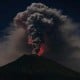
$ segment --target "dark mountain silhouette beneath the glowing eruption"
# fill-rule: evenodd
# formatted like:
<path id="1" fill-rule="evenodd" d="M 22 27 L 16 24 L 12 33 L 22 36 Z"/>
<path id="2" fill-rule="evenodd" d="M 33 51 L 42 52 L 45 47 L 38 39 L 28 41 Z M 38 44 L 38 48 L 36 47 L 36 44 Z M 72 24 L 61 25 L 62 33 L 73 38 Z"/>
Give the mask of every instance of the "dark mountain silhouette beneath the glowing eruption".
<path id="1" fill-rule="evenodd" d="M 22 56 L 0 68 L 0 80 L 77 80 L 80 74 L 39 56 Z"/>

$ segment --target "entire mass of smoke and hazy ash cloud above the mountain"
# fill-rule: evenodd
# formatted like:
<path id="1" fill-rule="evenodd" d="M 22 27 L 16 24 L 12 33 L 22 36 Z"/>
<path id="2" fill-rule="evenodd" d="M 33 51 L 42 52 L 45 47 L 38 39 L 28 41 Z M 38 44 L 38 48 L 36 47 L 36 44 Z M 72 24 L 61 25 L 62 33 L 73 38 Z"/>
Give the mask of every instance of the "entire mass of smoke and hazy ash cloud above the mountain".
<path id="1" fill-rule="evenodd" d="M 44 53 L 44 56 L 75 70 L 80 66 L 73 67 L 80 61 L 80 27 L 60 10 L 32 3 L 17 14 L 12 27 L 7 39 L 0 43 L 0 65 L 23 54 Z"/>

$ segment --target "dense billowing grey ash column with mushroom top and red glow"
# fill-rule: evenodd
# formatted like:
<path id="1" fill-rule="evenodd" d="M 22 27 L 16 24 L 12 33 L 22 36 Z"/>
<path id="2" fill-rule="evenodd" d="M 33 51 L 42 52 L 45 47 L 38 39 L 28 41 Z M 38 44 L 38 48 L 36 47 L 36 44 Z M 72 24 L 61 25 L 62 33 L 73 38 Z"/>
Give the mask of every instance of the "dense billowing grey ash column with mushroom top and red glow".
<path id="1" fill-rule="evenodd" d="M 48 8 L 42 3 L 32 3 L 27 10 L 19 13 L 18 23 L 27 30 L 28 41 L 32 45 L 32 54 L 43 54 L 47 47 L 45 40 L 55 23 L 66 20 L 60 11 Z M 16 18 L 17 18 L 16 17 Z M 19 22 L 20 21 L 20 22 Z"/>

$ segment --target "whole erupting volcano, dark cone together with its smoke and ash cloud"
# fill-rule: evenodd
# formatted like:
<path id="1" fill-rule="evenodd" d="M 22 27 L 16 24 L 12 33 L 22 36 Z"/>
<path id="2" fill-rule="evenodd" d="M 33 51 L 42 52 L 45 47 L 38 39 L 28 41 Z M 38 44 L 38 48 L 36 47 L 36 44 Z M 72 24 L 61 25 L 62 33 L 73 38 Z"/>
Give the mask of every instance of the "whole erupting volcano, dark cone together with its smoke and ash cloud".
<path id="1" fill-rule="evenodd" d="M 78 29 L 60 10 L 32 3 L 14 17 L 6 41 L 0 43 L 0 73 L 80 78 L 80 65 L 75 66 L 80 63 Z"/>

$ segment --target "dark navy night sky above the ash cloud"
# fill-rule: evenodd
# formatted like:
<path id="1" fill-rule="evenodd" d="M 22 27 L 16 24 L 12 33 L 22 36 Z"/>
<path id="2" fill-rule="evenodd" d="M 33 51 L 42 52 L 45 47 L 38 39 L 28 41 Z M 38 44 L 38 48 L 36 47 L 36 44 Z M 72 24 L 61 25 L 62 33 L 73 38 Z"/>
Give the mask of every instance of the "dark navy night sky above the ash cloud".
<path id="1" fill-rule="evenodd" d="M 25 10 L 32 2 L 42 2 L 49 7 L 60 9 L 75 22 L 80 21 L 80 0 L 0 0 L 0 32 L 9 26 L 17 12 Z M 2 35 L 0 33 L 0 36 Z"/>

